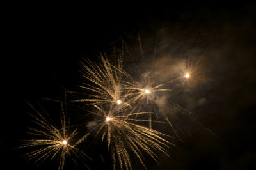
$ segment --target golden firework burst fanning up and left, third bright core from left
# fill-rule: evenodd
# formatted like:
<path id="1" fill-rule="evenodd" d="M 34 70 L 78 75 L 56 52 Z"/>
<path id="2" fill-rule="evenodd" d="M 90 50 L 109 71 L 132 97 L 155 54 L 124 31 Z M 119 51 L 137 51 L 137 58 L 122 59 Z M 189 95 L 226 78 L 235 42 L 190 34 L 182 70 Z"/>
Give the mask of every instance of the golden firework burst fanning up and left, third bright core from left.
<path id="1" fill-rule="evenodd" d="M 125 94 L 122 93 L 122 79 L 131 79 L 131 76 L 121 68 L 121 63 L 118 61 L 118 66 L 113 66 L 109 63 L 108 59 L 104 56 L 100 56 L 102 65 L 92 63 L 92 61 L 86 60 L 81 63 L 83 66 L 83 77 L 90 81 L 84 83 L 81 88 L 87 89 L 93 95 L 88 95 L 89 98 L 72 100 L 72 102 L 89 102 L 91 104 L 121 104 L 122 106 L 129 106 L 128 102 L 125 102 Z"/>

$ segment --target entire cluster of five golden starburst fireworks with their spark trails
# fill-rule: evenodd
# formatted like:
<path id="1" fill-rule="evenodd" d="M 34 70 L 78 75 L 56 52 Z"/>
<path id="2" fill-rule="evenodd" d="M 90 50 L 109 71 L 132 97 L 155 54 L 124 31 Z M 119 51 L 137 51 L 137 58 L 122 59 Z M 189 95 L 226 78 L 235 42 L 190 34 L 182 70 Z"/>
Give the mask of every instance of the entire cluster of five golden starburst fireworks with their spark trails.
<path id="1" fill-rule="evenodd" d="M 140 36 L 139 45 L 141 58 L 145 59 Z M 127 47 L 124 44 L 125 49 Z M 152 70 L 156 69 L 156 51 L 154 49 L 153 64 L 150 66 Z M 82 135 L 78 134 L 78 130 L 73 129 L 66 123 L 66 114 L 63 109 L 63 104 L 66 104 L 67 96 L 65 91 L 65 102 L 52 100 L 61 103 L 61 127 L 57 128 L 50 123 L 47 118 L 42 116 L 40 112 L 32 107 L 36 112 L 31 114 L 34 123 L 39 128 L 29 128 L 29 134 L 34 138 L 26 140 L 25 144 L 20 148 L 37 148 L 25 156 L 28 160 L 35 159 L 35 162 L 43 162 L 47 158 L 58 158 L 58 169 L 63 169 L 65 160 L 70 157 L 76 162 L 76 157 L 88 157 L 83 151 L 78 150 L 79 144 L 86 144 L 86 139 L 89 136 L 100 137 L 102 143 L 106 142 L 108 151 L 111 153 L 113 160 L 113 169 L 117 166 L 120 169 L 132 169 L 131 155 L 138 158 L 139 162 L 145 169 L 145 154 L 150 158 L 159 162 L 161 156 L 170 157 L 168 149 L 175 146 L 170 139 L 174 139 L 171 135 L 164 134 L 157 130 L 157 123 L 168 125 L 173 131 L 173 136 L 182 141 L 178 130 L 170 119 L 169 112 L 161 112 L 159 114 L 159 96 L 173 91 L 166 88 L 166 84 L 170 82 L 180 81 L 182 85 L 196 84 L 199 81 L 206 81 L 204 73 L 200 70 L 200 59 L 195 63 L 191 63 L 188 59 L 186 62 L 180 62 L 179 72 L 168 77 L 168 82 L 159 83 L 150 77 L 150 71 L 145 73 L 144 81 L 135 80 L 129 73 L 122 68 L 123 50 L 116 63 L 109 62 L 109 59 L 104 55 L 98 58 L 100 62 L 92 62 L 89 59 L 84 59 L 81 62 L 81 73 L 84 78 L 84 83 L 81 84 L 80 90 L 83 91 L 68 91 L 71 94 L 76 94 L 75 100 L 69 102 L 82 102 L 88 104 L 84 115 L 93 117 L 93 121 L 85 121 L 85 124 L 90 124 Z M 129 51 L 127 50 L 127 53 Z M 144 65 L 141 66 L 144 69 Z M 147 75 L 146 75 L 147 74 Z M 177 76 L 176 76 L 177 75 Z M 85 97 L 84 97 L 85 96 Z M 164 103 L 164 102 L 163 102 Z M 196 114 L 187 109 L 182 108 L 178 104 L 169 102 L 169 105 L 179 109 L 182 114 L 197 118 Z M 203 126 L 198 123 L 198 125 Z M 81 125 L 83 126 L 83 125 Z M 77 137 L 81 135 L 81 137 Z M 102 155 L 100 158 L 103 160 Z M 87 167 L 87 166 L 86 166 Z M 88 167 L 87 167 L 88 168 Z"/>

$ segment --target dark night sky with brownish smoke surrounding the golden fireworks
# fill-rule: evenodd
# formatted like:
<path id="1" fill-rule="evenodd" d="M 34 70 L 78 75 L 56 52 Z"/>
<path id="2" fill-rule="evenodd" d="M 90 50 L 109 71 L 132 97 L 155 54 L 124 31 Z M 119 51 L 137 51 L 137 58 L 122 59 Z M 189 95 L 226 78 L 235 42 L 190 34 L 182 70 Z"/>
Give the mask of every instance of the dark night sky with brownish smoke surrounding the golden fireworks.
<path id="1" fill-rule="evenodd" d="M 138 35 L 146 59 L 152 57 L 158 38 L 161 79 L 172 72 L 172 68 L 166 69 L 173 56 L 204 56 L 202 65 L 211 71 L 207 73 L 211 81 L 196 84 L 191 91 L 180 92 L 179 88 L 168 98 L 195 112 L 200 123 L 216 134 L 196 123 L 185 123 L 191 136 L 183 134 L 183 142 L 172 141 L 177 146 L 169 150 L 171 159 L 162 157 L 159 164 L 145 161 L 148 169 L 256 169 L 255 4 L 130 5 L 75 8 L 35 4 L 30 8 L 17 4 L 6 8 L 1 22 L 4 103 L 0 117 L 0 163 L 6 167 L 0 169 L 57 169 L 58 161 L 46 160 L 36 167 L 21 157 L 26 149 L 13 149 L 28 137 L 31 109 L 26 101 L 38 106 L 42 98 L 63 97 L 63 88 L 77 89 L 83 81 L 81 59 L 96 61 L 100 52 L 108 56 L 122 40 L 140 66 L 136 63 L 140 58 Z M 134 63 L 129 58 L 124 61 L 126 71 L 134 73 Z M 50 104 L 47 109 L 58 108 Z M 79 114 L 68 114 L 76 124 Z M 85 148 L 92 157 L 104 150 L 93 139 Z M 142 168 L 136 159 L 132 165 Z M 88 166 L 112 168 L 108 158 L 105 163 L 95 158 Z M 72 162 L 67 162 L 66 169 L 74 169 Z"/>

